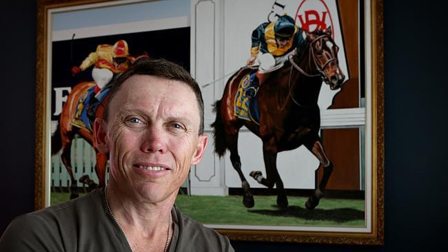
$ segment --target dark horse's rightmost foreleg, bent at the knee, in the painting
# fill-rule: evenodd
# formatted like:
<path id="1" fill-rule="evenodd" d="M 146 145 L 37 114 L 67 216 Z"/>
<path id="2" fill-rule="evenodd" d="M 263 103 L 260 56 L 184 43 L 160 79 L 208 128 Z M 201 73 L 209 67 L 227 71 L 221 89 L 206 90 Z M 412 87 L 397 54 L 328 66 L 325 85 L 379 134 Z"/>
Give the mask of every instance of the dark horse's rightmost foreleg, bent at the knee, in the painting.
<path id="1" fill-rule="evenodd" d="M 327 182 L 333 172 L 333 164 L 327 157 L 327 154 L 325 154 L 325 150 L 323 149 L 320 140 L 314 141 L 312 145 L 305 146 L 312 152 L 312 154 L 314 154 L 314 156 L 316 156 L 316 158 L 318 158 L 320 165 L 323 167 L 323 176 L 320 179 L 319 185 L 312 196 L 309 196 L 307 202 L 305 203 L 305 207 L 307 207 L 307 209 L 314 209 L 319 204 L 319 200 L 323 198 L 325 188 L 327 187 Z"/>

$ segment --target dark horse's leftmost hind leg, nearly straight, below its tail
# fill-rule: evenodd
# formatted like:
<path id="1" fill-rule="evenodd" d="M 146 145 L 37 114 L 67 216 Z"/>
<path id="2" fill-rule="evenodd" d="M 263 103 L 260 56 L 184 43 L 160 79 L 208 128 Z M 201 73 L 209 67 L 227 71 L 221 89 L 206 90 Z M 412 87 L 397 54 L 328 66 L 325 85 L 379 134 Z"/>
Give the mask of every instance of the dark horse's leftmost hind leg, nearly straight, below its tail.
<path id="1" fill-rule="evenodd" d="M 241 187 L 243 188 L 243 204 L 247 208 L 254 207 L 254 195 L 252 194 L 252 191 L 250 191 L 249 182 L 247 182 L 243 171 L 241 171 L 241 158 L 238 154 L 238 130 L 236 130 L 236 134 L 226 133 L 226 135 L 225 140 L 227 142 L 227 147 L 230 150 L 230 161 L 241 179 Z"/>

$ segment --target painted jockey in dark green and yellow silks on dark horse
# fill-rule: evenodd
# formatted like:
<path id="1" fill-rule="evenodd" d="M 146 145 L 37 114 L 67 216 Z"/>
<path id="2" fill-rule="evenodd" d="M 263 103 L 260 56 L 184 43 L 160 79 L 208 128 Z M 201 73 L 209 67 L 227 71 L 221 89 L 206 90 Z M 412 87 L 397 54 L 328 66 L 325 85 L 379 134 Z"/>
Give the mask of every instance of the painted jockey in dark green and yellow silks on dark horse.
<path id="1" fill-rule="evenodd" d="M 283 65 L 289 54 L 293 54 L 294 49 L 302 45 L 305 45 L 303 31 L 286 14 L 274 22 L 259 25 L 252 32 L 251 56 L 247 60 L 247 65 L 253 65 L 258 59 L 259 67 L 258 72 L 251 75 L 252 87 L 246 94 L 253 97 L 256 87 L 263 83 L 265 73 L 274 70 L 277 65 Z"/>

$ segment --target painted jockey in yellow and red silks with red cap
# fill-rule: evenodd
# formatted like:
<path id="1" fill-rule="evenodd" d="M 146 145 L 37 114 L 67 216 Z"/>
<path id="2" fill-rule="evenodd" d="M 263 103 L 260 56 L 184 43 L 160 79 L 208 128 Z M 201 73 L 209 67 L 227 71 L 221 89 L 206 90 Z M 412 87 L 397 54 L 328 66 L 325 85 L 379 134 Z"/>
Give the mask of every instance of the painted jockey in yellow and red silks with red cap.
<path id="1" fill-rule="evenodd" d="M 72 74 L 77 74 L 94 65 L 92 78 L 96 83 L 95 94 L 98 95 L 114 77 L 114 74 L 124 72 L 130 67 L 134 58 L 129 55 L 128 43 L 119 40 L 114 45 L 98 45 L 79 67 L 72 67 Z M 97 97 L 97 96 L 96 96 Z"/>

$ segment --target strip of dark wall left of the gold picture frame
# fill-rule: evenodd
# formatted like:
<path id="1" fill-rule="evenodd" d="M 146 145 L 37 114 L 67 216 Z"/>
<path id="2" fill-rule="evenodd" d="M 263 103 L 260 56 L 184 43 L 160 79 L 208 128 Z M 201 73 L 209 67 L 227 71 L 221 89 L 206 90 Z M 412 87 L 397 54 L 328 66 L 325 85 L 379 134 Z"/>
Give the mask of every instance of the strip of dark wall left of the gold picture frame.
<path id="1" fill-rule="evenodd" d="M 34 209 L 36 11 L 33 0 L 1 3 L 0 232 Z"/>

